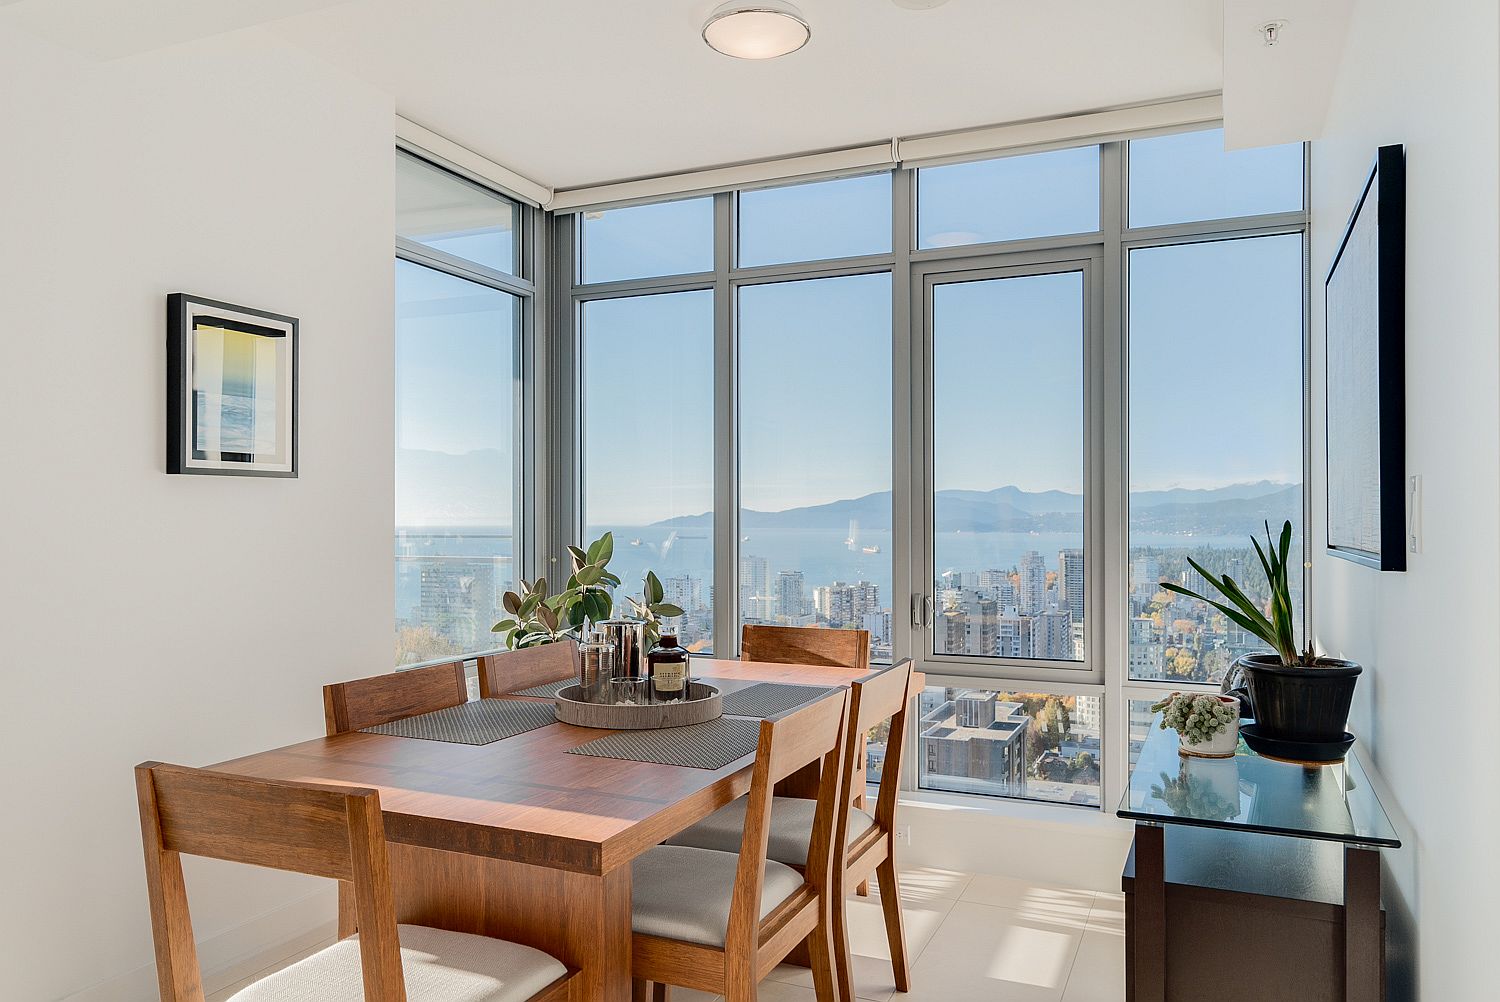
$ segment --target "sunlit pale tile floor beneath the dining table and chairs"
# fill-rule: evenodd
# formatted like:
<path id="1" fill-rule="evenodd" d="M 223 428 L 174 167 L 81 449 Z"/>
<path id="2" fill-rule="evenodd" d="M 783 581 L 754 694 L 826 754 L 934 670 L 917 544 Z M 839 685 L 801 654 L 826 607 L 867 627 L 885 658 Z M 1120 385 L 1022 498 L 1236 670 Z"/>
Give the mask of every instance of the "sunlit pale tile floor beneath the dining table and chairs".
<path id="1" fill-rule="evenodd" d="M 904 870 L 902 908 L 912 964 L 908 994 L 897 994 L 891 981 L 876 894 L 879 886 L 849 906 L 855 994 L 866 1002 L 1120 1002 L 1125 998 L 1120 894 L 932 867 Z M 208 1002 L 225 1002 L 306 952 L 210 996 Z M 812 984 L 808 970 L 783 964 L 760 984 L 760 999 L 814 1002 Z M 674 1002 L 712 998 L 686 988 L 672 992 Z"/>

